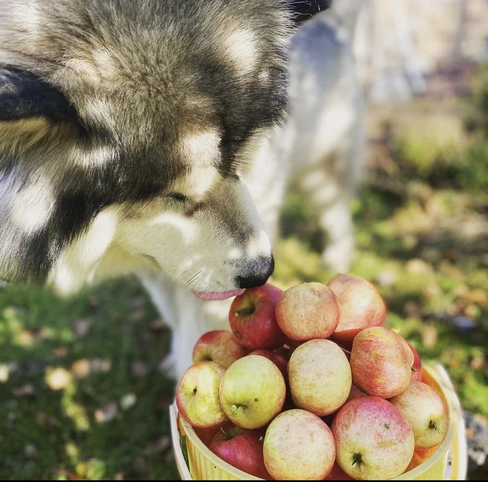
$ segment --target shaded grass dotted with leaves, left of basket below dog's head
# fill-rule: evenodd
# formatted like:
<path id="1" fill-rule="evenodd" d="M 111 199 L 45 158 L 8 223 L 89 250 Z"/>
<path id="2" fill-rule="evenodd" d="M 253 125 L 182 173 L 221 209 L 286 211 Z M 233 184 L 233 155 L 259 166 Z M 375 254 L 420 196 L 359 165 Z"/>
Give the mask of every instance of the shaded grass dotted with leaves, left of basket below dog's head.
<path id="1" fill-rule="evenodd" d="M 84 337 L 74 331 L 80 319 L 93 322 Z M 1 479 L 177 477 L 169 440 L 160 440 L 174 390 L 158 372 L 169 332 L 151 329 L 155 319 L 133 280 L 69 300 L 31 286 L 0 289 L 0 363 L 10 367 L 0 382 Z M 79 360 L 92 361 L 94 372 L 49 387 L 52 368 L 71 372 Z M 129 393 L 136 401 L 124 410 Z M 97 419 L 114 403 L 114 419 Z"/>

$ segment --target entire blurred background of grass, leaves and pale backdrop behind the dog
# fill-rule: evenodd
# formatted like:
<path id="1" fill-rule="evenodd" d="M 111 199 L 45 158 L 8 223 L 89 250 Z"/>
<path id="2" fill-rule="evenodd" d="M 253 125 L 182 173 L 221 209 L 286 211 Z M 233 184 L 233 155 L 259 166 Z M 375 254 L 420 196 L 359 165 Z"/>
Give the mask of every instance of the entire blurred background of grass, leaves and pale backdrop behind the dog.
<path id="1" fill-rule="evenodd" d="M 488 476 L 488 1 L 335 0 L 367 100 L 351 272 L 448 371 L 469 479 Z M 323 15 L 327 15 L 324 13 Z M 287 195 L 273 283 L 326 282 L 318 213 Z M 170 333 L 136 280 L 60 300 L 0 285 L 0 478 L 174 479 Z"/>

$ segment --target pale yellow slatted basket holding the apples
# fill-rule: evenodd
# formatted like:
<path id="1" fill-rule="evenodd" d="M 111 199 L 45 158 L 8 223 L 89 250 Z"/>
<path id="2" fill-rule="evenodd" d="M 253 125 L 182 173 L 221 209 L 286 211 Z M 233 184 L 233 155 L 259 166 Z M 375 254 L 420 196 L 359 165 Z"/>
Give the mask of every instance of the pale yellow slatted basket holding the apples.
<path id="1" fill-rule="evenodd" d="M 441 445 L 427 460 L 393 480 L 465 480 L 467 456 L 464 421 L 452 383 L 440 365 L 423 367 L 422 381 L 432 386 L 445 400 L 449 407 L 450 427 Z M 176 404 L 170 407 L 170 419 L 174 455 L 182 480 L 262 480 L 218 458 L 201 442 L 191 425 L 178 416 Z M 181 448 L 183 440 L 187 447 L 188 465 Z"/>

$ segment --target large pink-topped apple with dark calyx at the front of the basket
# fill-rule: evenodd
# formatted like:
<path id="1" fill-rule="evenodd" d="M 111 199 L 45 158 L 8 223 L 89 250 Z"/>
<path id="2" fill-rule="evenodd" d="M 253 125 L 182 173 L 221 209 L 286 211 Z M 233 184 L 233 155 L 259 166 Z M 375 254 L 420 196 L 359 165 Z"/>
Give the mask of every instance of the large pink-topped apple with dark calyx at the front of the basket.
<path id="1" fill-rule="evenodd" d="M 332 432 L 336 461 L 356 480 L 392 479 L 405 471 L 413 455 L 411 426 L 383 398 L 349 400 L 335 415 Z"/>

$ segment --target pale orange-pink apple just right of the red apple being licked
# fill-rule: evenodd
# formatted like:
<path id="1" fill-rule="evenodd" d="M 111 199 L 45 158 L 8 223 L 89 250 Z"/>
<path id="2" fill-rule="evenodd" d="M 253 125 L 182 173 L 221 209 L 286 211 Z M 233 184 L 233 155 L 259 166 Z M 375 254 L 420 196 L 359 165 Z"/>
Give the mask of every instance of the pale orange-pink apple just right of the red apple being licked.
<path id="1" fill-rule="evenodd" d="M 328 338 L 339 323 L 335 294 L 322 283 L 300 283 L 284 292 L 276 303 L 276 321 L 294 341 Z"/>

